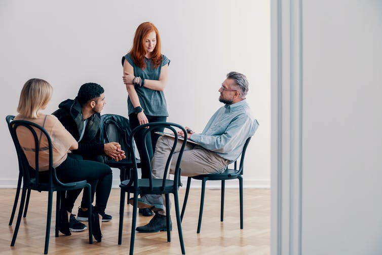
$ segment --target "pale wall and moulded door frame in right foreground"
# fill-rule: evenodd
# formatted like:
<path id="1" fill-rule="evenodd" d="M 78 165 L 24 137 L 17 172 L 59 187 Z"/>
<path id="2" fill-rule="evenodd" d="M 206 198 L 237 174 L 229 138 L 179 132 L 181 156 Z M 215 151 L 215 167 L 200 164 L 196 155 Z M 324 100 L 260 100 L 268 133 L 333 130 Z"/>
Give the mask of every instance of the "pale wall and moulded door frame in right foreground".
<path id="1" fill-rule="evenodd" d="M 381 10 L 272 1 L 273 255 L 382 252 Z"/>

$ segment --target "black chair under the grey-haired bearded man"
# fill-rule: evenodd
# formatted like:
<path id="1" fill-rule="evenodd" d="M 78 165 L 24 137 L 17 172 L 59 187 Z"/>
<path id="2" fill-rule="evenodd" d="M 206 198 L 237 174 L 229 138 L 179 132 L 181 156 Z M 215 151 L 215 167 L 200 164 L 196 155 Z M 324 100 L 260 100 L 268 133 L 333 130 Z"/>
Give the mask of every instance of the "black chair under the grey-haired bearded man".
<path id="1" fill-rule="evenodd" d="M 226 168 L 224 172 L 222 173 L 211 173 L 211 174 L 202 174 L 202 175 L 196 175 L 192 177 L 187 178 L 187 187 L 186 187 L 186 193 L 184 196 L 183 206 L 182 206 L 182 213 L 180 215 L 181 220 L 183 220 L 184 211 L 187 204 L 188 199 L 188 193 L 189 193 L 189 187 L 191 184 L 191 179 L 197 179 L 202 180 L 202 194 L 200 197 L 200 209 L 199 209 L 199 220 L 198 220 L 198 230 L 197 233 L 200 233 L 200 228 L 202 226 L 202 216 L 203 216 L 203 204 L 204 204 L 204 194 L 206 189 L 206 181 L 207 180 L 221 180 L 221 202 L 220 202 L 220 222 L 223 221 L 223 214 L 224 214 L 224 189 L 225 189 L 225 180 L 230 179 L 239 179 L 239 193 L 240 193 L 240 229 L 243 229 L 243 164 L 244 164 L 244 156 L 245 151 L 247 150 L 247 146 L 249 141 L 251 140 L 251 137 L 249 137 L 244 144 L 243 151 L 240 158 L 240 166 L 239 169 L 237 168 L 237 161 L 234 163 L 234 168 Z"/>

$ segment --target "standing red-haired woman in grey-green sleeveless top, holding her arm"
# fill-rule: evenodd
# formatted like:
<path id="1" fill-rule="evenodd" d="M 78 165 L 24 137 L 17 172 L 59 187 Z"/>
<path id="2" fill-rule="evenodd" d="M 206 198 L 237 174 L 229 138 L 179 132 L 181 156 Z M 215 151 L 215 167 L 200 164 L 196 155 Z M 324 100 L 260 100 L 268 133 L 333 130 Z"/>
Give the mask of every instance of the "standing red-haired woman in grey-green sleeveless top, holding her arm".
<path id="1" fill-rule="evenodd" d="M 167 120 L 167 104 L 163 91 L 167 84 L 169 63 L 170 60 L 161 53 L 161 38 L 157 27 L 150 22 L 140 24 L 135 31 L 133 47 L 122 57 L 131 129 L 142 124 Z M 149 164 L 160 135 L 151 132 L 146 141 L 143 141 L 142 135 L 143 132 L 138 132 L 134 139 L 141 159 L 142 178 L 148 178 L 151 174 Z M 149 158 L 143 151 L 143 142 L 147 144 Z M 139 209 L 139 212 L 144 216 L 152 215 L 148 208 Z"/>

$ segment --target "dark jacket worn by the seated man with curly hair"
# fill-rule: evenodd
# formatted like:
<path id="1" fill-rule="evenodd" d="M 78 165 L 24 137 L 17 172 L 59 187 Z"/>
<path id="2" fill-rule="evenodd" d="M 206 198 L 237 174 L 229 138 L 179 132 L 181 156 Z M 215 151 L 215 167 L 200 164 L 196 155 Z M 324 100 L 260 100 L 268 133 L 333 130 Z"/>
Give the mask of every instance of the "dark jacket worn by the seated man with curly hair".
<path id="1" fill-rule="evenodd" d="M 84 127 L 81 104 L 77 99 L 66 99 L 58 107 L 59 109 L 53 115 L 57 117 L 75 140 L 79 140 Z M 105 155 L 103 151 L 104 144 L 101 142 L 100 123 L 100 114 L 93 114 L 88 118 L 88 124 L 84 136 L 78 144 L 78 150 L 74 150 L 72 153 L 81 154 L 85 157 Z"/>

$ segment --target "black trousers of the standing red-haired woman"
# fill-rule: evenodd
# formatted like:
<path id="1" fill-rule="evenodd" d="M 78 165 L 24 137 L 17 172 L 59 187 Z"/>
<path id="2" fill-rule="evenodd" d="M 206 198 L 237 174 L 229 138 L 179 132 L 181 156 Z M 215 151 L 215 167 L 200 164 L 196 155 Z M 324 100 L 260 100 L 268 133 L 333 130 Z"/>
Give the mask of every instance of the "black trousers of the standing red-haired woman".
<path id="1" fill-rule="evenodd" d="M 164 122 L 167 120 L 166 116 L 147 116 L 146 115 L 146 117 L 147 117 L 148 123 Z M 137 114 L 135 113 L 130 114 L 129 122 L 130 122 L 131 130 L 138 127 L 139 122 L 138 122 Z M 150 172 L 151 159 L 152 157 L 154 157 L 155 146 L 157 145 L 157 141 L 159 137 L 161 136 L 160 134 L 156 134 L 155 132 L 157 131 L 163 132 L 163 130 L 164 128 L 153 129 L 151 130 L 149 134 L 147 134 L 145 142 L 147 144 L 148 158 L 146 156 L 146 153 L 143 147 L 144 130 L 141 130 L 140 132 L 137 132 L 134 135 L 135 144 L 137 145 L 139 157 L 141 160 L 142 178 L 148 178 L 151 175 L 151 172 Z"/>

